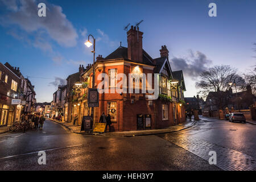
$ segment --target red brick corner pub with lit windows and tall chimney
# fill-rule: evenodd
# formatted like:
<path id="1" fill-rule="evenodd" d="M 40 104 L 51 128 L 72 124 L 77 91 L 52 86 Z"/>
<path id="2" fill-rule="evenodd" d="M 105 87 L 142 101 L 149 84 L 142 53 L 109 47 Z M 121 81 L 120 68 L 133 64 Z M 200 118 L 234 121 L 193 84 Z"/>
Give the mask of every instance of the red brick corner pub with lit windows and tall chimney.
<path id="1" fill-rule="evenodd" d="M 127 32 L 127 48 L 120 46 L 105 58 L 99 55 L 95 63 L 96 88 L 101 82 L 97 80 L 100 73 L 106 73 L 109 80 L 114 81 L 115 84 L 119 82 L 118 73 L 125 73 L 127 78 L 129 73 L 134 75 L 152 73 L 153 83 L 154 73 L 159 74 L 157 77 L 159 97 L 156 100 L 151 100 L 149 95 L 152 94 L 141 92 L 141 78 L 139 78 L 140 93 L 127 91 L 119 94 L 109 91 L 100 94 L 100 105 L 94 108 L 94 123 L 99 121 L 102 112 L 110 114 L 112 131 L 163 129 L 185 121 L 183 72 L 172 71 L 166 46 L 160 49 L 160 57 L 152 59 L 142 47 L 142 35 L 143 32 L 131 26 Z M 86 68 L 80 65 L 80 82 L 88 82 L 88 88 L 92 88 L 92 72 L 92 65 Z M 154 89 L 154 84 L 151 85 Z M 72 118 L 77 116 L 79 125 L 82 116 L 91 114 L 87 101 L 88 88 L 82 89 L 81 93 L 73 96 Z"/>

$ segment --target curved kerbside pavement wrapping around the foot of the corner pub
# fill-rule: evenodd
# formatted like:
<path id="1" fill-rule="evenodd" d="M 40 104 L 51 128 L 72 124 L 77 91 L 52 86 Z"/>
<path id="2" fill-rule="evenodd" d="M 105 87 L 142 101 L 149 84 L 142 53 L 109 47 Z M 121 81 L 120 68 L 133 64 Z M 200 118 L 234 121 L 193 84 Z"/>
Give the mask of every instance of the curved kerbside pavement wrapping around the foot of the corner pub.
<path id="1" fill-rule="evenodd" d="M 104 134 L 98 134 L 98 133 L 85 133 L 84 131 L 80 132 L 81 126 L 73 125 L 73 123 L 67 123 L 67 122 L 59 122 L 57 120 L 49 119 L 50 121 L 59 123 L 60 125 L 66 127 L 68 130 L 70 130 L 73 133 L 76 134 L 83 134 L 83 135 L 101 135 L 106 137 L 135 137 L 135 136 L 142 136 L 142 135 L 155 135 L 155 134 L 163 134 L 163 133 L 172 133 L 175 131 L 180 131 L 187 129 L 188 127 L 191 127 L 195 125 L 195 121 L 185 121 L 182 124 L 170 126 L 166 129 L 158 129 L 158 130 L 141 130 L 141 131 L 122 131 L 122 132 L 108 132 Z"/>

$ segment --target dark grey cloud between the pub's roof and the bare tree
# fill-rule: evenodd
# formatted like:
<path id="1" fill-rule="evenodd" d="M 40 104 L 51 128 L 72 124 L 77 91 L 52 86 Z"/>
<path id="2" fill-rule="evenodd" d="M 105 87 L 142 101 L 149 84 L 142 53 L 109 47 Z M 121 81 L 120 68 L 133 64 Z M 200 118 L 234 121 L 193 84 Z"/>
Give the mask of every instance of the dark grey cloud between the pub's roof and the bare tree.
<path id="1" fill-rule="evenodd" d="M 184 75 L 196 78 L 200 73 L 207 71 L 208 65 L 211 63 L 212 61 L 204 53 L 190 51 L 189 57 L 174 57 L 171 60 L 171 67 L 173 71 L 183 70 Z"/>

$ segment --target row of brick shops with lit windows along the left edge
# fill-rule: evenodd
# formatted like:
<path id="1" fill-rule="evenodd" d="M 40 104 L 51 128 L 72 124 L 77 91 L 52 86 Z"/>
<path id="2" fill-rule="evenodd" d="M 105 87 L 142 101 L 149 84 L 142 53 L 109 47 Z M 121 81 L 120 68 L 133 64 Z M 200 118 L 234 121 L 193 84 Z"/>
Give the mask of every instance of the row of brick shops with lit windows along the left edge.
<path id="1" fill-rule="evenodd" d="M 20 121 L 22 113 L 30 113 L 36 102 L 34 86 L 19 68 L 0 63 L 0 127 Z"/>

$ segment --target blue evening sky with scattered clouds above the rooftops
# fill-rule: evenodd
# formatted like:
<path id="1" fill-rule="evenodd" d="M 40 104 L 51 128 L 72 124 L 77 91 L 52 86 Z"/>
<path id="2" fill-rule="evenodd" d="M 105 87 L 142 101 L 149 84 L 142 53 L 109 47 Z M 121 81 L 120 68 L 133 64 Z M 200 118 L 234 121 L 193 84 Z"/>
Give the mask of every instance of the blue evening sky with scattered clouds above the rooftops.
<path id="1" fill-rule="evenodd" d="M 37 15 L 40 2 L 46 3 L 46 18 Z M 211 2 L 217 5 L 217 17 L 208 15 Z M 96 55 L 105 57 L 119 42 L 127 46 L 126 25 L 143 19 L 143 49 L 156 58 L 166 45 L 171 60 L 185 60 L 185 97 L 193 97 L 200 71 L 229 64 L 244 73 L 255 65 L 255 18 L 253 0 L 0 0 L 0 61 L 30 76 L 38 102 L 50 102 L 59 84 L 49 84 L 54 78 L 65 79 L 79 64 L 92 63 L 90 48 L 84 45 L 88 34 L 97 39 Z M 175 71 L 183 65 L 171 67 Z"/>

